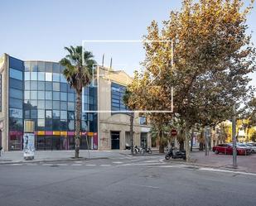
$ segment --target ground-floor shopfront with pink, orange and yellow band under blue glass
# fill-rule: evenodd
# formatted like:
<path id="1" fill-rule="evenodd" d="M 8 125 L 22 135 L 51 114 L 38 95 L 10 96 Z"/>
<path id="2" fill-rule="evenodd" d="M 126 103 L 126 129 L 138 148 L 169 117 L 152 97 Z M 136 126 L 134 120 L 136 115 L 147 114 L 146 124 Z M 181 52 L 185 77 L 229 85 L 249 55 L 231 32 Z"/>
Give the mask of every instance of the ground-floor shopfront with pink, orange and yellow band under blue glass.
<path id="1" fill-rule="evenodd" d="M 38 135 L 35 134 L 35 148 L 37 151 L 65 151 L 75 149 L 75 138 L 72 135 Z M 81 150 L 98 149 L 98 136 L 96 132 L 82 134 L 80 138 Z M 10 132 L 9 151 L 21 151 L 23 146 L 23 133 Z"/>

